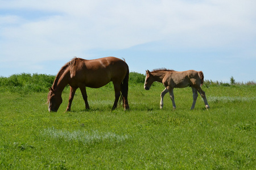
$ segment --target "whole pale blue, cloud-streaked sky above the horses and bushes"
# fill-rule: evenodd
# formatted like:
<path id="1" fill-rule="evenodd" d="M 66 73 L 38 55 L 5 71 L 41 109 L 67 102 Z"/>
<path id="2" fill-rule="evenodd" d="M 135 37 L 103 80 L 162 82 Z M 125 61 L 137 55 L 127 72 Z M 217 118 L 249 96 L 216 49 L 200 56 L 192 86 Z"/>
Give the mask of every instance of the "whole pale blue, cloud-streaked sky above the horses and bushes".
<path id="1" fill-rule="evenodd" d="M 202 70 L 256 81 L 256 1 L 0 0 L 0 76 L 56 75 L 73 57 L 125 58 L 130 71 Z"/>

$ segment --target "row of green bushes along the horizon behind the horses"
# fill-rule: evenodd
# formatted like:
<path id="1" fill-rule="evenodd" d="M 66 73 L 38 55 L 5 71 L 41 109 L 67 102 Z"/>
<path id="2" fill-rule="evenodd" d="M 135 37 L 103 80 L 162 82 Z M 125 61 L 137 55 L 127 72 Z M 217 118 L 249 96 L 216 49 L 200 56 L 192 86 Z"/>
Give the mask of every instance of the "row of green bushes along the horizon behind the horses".
<path id="1" fill-rule="evenodd" d="M 48 88 L 52 86 L 55 75 L 46 74 L 14 74 L 9 78 L 0 76 L 0 91 L 18 92 L 19 94 L 27 94 L 28 92 L 48 92 Z M 129 84 L 144 84 L 145 75 L 131 72 L 129 75 Z M 153 83 L 152 86 L 155 86 Z M 233 76 L 230 78 L 230 84 L 233 86 L 255 86 L 255 82 L 240 83 L 235 82 Z M 205 80 L 204 87 L 212 86 L 230 86 L 229 83 L 213 82 L 212 80 Z M 68 86 L 67 86 L 68 87 Z M 107 84 L 106 87 L 112 88 L 112 83 Z"/>

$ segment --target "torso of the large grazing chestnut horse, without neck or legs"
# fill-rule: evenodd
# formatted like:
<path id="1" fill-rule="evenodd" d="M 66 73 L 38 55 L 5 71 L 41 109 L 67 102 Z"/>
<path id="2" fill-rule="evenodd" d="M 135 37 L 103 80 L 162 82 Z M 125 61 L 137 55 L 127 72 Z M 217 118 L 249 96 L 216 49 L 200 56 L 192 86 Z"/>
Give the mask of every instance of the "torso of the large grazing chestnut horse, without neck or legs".
<path id="1" fill-rule="evenodd" d="M 72 83 L 82 83 L 87 87 L 102 87 L 113 80 L 122 82 L 129 71 L 126 62 L 115 57 L 77 59 L 76 62 L 71 68 Z"/>

